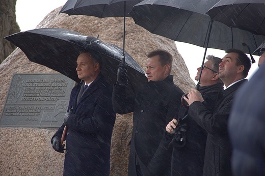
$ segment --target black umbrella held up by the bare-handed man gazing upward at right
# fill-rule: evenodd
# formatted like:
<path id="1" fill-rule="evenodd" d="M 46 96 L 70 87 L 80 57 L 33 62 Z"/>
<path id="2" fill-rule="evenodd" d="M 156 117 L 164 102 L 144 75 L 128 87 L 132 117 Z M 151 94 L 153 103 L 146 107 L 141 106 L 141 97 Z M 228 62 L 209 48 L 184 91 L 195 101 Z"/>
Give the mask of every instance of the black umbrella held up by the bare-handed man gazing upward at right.
<path id="1" fill-rule="evenodd" d="M 246 53 L 265 40 L 251 32 L 213 21 L 205 14 L 219 0 L 145 0 L 129 13 L 136 24 L 149 32 L 169 39 L 205 47 L 201 71 L 207 48 L 241 49 Z M 244 43 L 244 45 L 243 45 Z M 248 47 L 245 47 L 247 44 Z M 201 74 L 200 74 L 201 75 Z M 200 76 L 197 87 L 200 83 Z"/>

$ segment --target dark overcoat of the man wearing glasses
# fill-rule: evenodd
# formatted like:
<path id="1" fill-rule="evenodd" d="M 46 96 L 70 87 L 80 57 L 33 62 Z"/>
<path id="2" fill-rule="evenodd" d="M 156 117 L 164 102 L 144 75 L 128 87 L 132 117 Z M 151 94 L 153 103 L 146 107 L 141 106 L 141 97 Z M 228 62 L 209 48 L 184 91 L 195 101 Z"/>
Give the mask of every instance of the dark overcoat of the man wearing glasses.
<path id="1" fill-rule="evenodd" d="M 222 91 L 223 84 L 221 83 L 199 88 L 199 92 L 204 99 L 203 105 L 207 107 L 210 112 L 214 111 L 215 104 L 222 98 Z M 178 117 L 183 118 L 186 113 L 188 113 L 188 109 L 184 106 L 180 106 Z M 171 175 L 202 175 L 207 132 L 190 116 L 187 116 L 184 122 L 188 124 L 186 143 L 181 147 L 176 144 L 174 145 Z M 176 142 L 174 138 L 173 142 Z"/>

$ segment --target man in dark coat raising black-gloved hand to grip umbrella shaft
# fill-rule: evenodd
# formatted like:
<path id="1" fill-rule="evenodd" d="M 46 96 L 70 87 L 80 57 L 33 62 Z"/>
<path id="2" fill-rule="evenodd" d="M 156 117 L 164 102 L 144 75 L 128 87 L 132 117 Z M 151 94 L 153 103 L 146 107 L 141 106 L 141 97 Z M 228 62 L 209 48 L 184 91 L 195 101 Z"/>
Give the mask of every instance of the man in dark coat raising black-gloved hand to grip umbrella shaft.
<path id="1" fill-rule="evenodd" d="M 113 107 L 120 114 L 134 112 L 128 175 L 170 175 L 172 150 L 162 138 L 166 125 L 180 106 L 183 92 L 170 75 L 172 55 L 169 52 L 154 50 L 147 57 L 148 82 L 136 95 L 126 95 L 126 69 L 120 65 L 113 90 Z"/>

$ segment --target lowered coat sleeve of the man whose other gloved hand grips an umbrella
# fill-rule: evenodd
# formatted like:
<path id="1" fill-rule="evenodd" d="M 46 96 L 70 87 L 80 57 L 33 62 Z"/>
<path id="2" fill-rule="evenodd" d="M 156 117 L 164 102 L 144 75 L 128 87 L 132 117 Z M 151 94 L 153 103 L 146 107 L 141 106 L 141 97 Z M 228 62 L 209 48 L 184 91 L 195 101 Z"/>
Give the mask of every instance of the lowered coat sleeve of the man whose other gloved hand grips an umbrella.
<path id="1" fill-rule="evenodd" d="M 172 101 L 170 102 L 167 109 L 166 120 L 164 125 L 164 133 L 167 133 L 166 126 L 172 119 L 178 119 L 177 117 L 177 111 L 179 106 L 181 105 L 181 97 L 183 93 L 175 93 L 175 96 L 173 97 Z M 172 95 L 171 95 L 172 96 Z M 167 164 L 170 165 L 171 163 L 171 155 L 173 148 L 169 148 L 170 138 L 168 138 L 166 135 L 162 138 L 160 141 L 160 144 L 158 146 L 158 149 L 156 150 L 154 156 L 152 157 L 151 161 L 149 162 L 147 168 L 152 172 L 153 175 L 160 175 L 161 171 L 167 166 Z"/>

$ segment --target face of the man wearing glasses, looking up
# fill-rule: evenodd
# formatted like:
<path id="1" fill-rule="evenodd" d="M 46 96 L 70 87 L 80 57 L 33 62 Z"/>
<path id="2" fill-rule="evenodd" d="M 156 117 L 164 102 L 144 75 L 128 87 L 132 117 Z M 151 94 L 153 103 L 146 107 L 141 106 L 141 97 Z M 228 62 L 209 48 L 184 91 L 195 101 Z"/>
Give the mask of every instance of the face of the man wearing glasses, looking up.
<path id="1" fill-rule="evenodd" d="M 211 64 L 210 61 L 207 61 L 204 63 L 204 69 L 201 72 L 201 79 L 200 79 L 200 85 L 201 86 L 206 86 L 206 85 L 211 85 L 214 84 L 216 82 L 213 82 L 213 78 L 214 76 L 217 74 L 213 70 L 213 66 Z M 209 68 L 209 69 L 208 69 Z M 211 70 L 210 70 L 211 69 Z M 199 80 L 199 75 L 200 75 L 200 71 L 201 71 L 201 67 L 197 68 L 198 72 L 197 75 L 195 76 L 195 80 Z"/>

